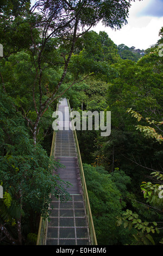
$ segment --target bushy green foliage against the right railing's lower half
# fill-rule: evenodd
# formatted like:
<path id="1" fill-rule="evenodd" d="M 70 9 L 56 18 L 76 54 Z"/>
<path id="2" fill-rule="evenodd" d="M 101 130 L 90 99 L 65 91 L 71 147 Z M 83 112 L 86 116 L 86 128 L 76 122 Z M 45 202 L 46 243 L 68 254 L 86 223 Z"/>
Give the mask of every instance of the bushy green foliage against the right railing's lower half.
<path id="1" fill-rule="evenodd" d="M 116 244 L 119 235 L 116 216 L 121 215 L 130 182 L 124 172 L 109 174 L 103 167 L 83 164 L 98 245 Z M 120 184 L 121 180 L 121 184 Z"/>

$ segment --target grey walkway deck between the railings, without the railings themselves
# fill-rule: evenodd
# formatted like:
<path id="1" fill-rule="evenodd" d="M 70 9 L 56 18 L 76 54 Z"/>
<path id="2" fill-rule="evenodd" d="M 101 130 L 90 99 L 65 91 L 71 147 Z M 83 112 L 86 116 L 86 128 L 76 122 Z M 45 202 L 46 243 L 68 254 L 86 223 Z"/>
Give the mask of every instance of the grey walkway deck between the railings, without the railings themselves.
<path id="1" fill-rule="evenodd" d="M 54 156 L 65 166 L 58 169 L 60 178 L 73 185 L 67 188 L 71 200 L 63 203 L 52 197 L 45 245 L 91 245 L 76 146 L 73 131 L 70 128 L 67 130 L 70 119 L 69 115 L 66 119 L 65 107 L 68 107 L 66 99 L 60 101 L 58 106 L 66 121 L 59 124 L 65 127 L 56 133 Z"/>

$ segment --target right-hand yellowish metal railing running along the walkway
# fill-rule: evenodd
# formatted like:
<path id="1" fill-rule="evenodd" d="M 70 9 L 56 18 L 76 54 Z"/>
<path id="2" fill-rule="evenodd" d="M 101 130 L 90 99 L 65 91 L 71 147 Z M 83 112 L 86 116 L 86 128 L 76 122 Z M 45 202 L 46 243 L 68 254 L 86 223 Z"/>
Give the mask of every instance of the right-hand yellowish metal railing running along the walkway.
<path id="1" fill-rule="evenodd" d="M 85 176 L 84 176 L 82 157 L 80 155 L 77 133 L 76 133 L 76 129 L 74 127 L 74 122 L 73 122 L 73 117 L 72 117 L 72 113 L 71 113 L 70 103 L 69 103 L 68 100 L 67 100 L 67 102 L 68 102 L 68 107 L 69 107 L 69 110 L 70 110 L 70 117 L 72 118 L 71 124 L 72 124 L 72 130 L 73 130 L 73 135 L 74 135 L 74 141 L 75 141 L 75 144 L 76 144 L 78 164 L 79 164 L 79 170 L 80 170 L 80 178 L 81 178 L 81 181 L 82 181 L 83 196 L 84 196 L 84 201 L 85 201 L 87 221 L 88 221 L 88 224 L 89 224 L 91 244 L 92 245 L 97 245 L 95 227 L 94 227 L 94 224 L 93 224 L 93 218 L 92 218 L 92 213 L 91 213 L 89 196 L 88 196 L 87 188 L 86 188 L 86 181 L 85 181 Z"/>

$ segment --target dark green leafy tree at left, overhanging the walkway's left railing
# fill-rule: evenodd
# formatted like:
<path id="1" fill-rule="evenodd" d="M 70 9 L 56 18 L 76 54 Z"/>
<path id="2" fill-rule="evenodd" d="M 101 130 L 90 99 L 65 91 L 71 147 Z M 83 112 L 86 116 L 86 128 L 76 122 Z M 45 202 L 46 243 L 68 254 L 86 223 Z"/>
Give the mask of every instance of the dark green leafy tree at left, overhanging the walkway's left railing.
<path id="1" fill-rule="evenodd" d="M 66 200 L 68 193 L 65 182 L 53 175 L 61 164 L 49 159 L 40 144 L 33 145 L 21 114 L 2 87 L 0 95 L 0 242 L 24 245 L 28 234 L 37 233 L 40 215 L 48 217 L 49 194 L 60 193 Z"/>

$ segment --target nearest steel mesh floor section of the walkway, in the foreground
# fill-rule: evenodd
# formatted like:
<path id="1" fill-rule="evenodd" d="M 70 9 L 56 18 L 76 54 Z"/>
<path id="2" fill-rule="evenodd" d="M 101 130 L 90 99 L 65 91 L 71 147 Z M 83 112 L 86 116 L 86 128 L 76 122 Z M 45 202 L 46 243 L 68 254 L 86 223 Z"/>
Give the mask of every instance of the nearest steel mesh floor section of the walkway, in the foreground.
<path id="1" fill-rule="evenodd" d="M 89 228 L 82 194 L 71 201 L 53 198 L 49 214 L 46 245 L 90 245 Z"/>

